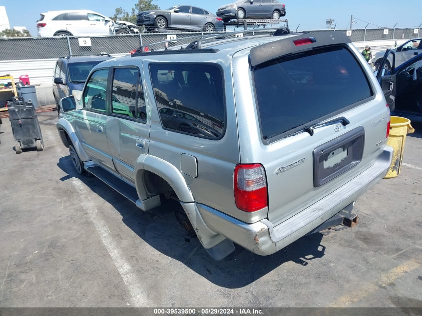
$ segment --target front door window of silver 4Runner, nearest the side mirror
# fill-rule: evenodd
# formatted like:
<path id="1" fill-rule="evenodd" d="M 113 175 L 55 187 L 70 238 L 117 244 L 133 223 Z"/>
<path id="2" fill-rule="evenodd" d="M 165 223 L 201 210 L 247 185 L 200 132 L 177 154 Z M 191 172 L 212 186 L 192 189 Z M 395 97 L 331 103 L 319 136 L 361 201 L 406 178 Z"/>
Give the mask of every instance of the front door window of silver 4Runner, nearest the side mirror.
<path id="1" fill-rule="evenodd" d="M 83 91 L 83 106 L 87 110 L 106 111 L 106 88 L 108 69 L 95 71 Z"/>

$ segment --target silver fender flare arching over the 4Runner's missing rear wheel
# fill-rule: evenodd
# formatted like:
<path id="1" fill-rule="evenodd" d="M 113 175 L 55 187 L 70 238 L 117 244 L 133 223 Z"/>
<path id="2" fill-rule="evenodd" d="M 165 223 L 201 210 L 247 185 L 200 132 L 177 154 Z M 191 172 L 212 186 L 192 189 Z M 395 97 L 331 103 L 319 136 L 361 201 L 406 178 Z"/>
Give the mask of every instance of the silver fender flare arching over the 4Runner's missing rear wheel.
<path id="1" fill-rule="evenodd" d="M 181 202 L 195 202 L 192 192 L 189 189 L 182 173 L 171 163 L 151 155 L 139 157 L 135 166 L 136 187 L 139 197 L 147 196 L 143 186 L 143 171 L 147 170 L 163 178 L 171 186 Z"/>

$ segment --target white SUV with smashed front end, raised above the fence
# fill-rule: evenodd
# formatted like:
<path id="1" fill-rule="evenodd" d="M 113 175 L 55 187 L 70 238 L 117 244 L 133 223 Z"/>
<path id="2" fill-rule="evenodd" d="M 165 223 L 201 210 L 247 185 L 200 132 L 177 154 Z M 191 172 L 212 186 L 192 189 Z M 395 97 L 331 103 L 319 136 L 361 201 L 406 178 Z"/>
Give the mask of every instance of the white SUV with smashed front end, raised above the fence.
<path id="1" fill-rule="evenodd" d="M 38 36 L 100 36 L 139 32 L 136 25 L 114 22 L 91 10 L 48 11 L 36 23 Z"/>

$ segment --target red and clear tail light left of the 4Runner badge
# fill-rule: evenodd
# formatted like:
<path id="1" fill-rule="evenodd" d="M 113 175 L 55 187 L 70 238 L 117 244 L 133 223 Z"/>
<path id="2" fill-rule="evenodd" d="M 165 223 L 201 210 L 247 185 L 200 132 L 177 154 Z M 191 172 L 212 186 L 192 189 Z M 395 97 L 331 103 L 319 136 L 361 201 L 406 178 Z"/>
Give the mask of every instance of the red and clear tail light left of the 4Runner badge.
<path id="1" fill-rule="evenodd" d="M 268 206 L 267 177 L 261 164 L 236 165 L 234 198 L 238 209 L 245 212 L 255 212 Z"/>

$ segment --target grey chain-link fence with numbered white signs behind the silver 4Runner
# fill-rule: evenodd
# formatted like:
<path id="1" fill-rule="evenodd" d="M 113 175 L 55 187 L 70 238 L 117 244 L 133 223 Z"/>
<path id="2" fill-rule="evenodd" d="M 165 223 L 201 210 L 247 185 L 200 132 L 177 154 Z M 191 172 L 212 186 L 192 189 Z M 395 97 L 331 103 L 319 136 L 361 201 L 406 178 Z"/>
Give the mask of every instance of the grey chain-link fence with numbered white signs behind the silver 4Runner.
<path id="1" fill-rule="evenodd" d="M 305 30 L 311 32 L 327 32 L 330 30 Z M 376 29 L 339 29 L 336 32 L 344 32 L 351 37 L 352 41 L 371 41 L 389 39 L 410 39 L 418 37 L 422 32 L 419 28 L 376 28 Z M 268 34 L 265 28 L 248 29 L 243 36 L 257 33 Z M 189 44 L 201 38 L 204 34 L 217 34 L 220 37 L 232 38 L 234 32 L 160 32 L 139 33 L 127 35 L 91 36 L 91 37 L 20 37 L 0 38 L 0 60 L 27 60 L 27 59 L 50 59 L 66 55 L 88 55 L 107 52 L 109 54 L 129 53 L 141 45 L 150 45 L 151 48 L 164 48 L 164 44 L 155 44 L 165 40 L 175 39 L 177 45 Z M 182 39 L 181 38 L 185 38 Z M 169 42 L 169 46 L 176 45 Z"/>

